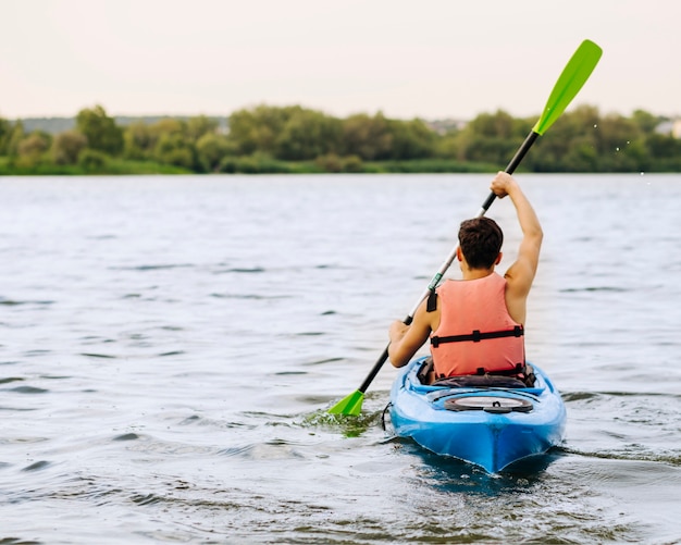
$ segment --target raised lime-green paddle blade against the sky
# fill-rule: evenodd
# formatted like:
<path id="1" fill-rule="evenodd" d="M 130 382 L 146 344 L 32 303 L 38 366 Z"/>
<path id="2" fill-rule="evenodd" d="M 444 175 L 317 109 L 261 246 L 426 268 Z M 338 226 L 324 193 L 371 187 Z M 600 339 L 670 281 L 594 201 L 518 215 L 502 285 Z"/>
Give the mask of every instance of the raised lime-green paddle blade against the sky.
<path id="1" fill-rule="evenodd" d="M 544 113 L 532 128 L 534 133 L 543 135 L 560 117 L 560 114 L 589 79 L 602 54 L 603 50 L 596 44 L 591 40 L 582 41 L 556 82 L 554 90 L 546 101 Z"/>

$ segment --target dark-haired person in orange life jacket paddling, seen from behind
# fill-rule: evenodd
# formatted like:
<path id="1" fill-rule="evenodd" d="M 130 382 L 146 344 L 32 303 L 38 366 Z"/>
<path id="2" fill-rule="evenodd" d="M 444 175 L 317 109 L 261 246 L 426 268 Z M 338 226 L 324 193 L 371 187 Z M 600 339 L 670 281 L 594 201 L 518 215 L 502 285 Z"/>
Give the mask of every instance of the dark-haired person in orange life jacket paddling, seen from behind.
<path id="1" fill-rule="evenodd" d="M 406 366 L 431 340 L 434 372 L 430 381 L 469 374 L 523 377 L 527 300 L 536 273 L 543 232 L 518 182 L 499 172 L 491 184 L 498 198 L 509 196 L 522 241 L 516 261 L 504 276 L 495 272 L 502 261 L 504 234 L 488 218 L 467 220 L 459 230 L 457 259 L 462 280 L 447 280 L 417 309 L 406 325 L 389 327 L 388 356 L 393 366 Z"/>

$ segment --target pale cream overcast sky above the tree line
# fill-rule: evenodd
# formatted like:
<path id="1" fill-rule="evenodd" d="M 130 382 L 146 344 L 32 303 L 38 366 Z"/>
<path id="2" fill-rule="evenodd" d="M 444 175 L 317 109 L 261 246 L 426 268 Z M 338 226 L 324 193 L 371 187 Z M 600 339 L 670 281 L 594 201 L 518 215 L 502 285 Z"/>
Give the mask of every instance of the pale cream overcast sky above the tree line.
<path id="1" fill-rule="evenodd" d="M 681 115 L 678 0 L 0 0 L 0 116 L 538 115 L 585 38 L 573 106 Z"/>

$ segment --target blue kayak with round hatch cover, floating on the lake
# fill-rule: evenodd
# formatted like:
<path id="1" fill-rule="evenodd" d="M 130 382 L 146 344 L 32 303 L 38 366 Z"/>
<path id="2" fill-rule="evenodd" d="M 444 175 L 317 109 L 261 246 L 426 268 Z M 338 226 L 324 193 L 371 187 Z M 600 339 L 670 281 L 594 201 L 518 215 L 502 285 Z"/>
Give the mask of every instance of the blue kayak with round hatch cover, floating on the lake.
<path id="1" fill-rule="evenodd" d="M 490 473 L 544 454 L 562 441 L 565 405 L 536 366 L 532 366 L 536 376 L 532 387 L 506 377 L 482 385 L 483 376 L 458 381 L 463 385 L 457 380 L 424 385 L 419 373 L 426 359 L 405 366 L 393 384 L 389 414 L 396 435 Z"/>

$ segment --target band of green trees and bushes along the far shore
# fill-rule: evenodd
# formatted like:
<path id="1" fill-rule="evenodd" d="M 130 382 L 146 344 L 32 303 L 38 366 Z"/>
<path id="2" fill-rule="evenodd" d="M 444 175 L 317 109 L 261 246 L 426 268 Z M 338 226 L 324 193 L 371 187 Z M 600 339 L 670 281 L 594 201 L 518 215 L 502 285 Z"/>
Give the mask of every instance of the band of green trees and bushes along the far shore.
<path id="1" fill-rule="evenodd" d="M 499 110 L 435 127 L 381 112 L 336 117 L 300 106 L 257 106 L 121 126 L 101 106 L 55 135 L 0 119 L 0 173 L 466 172 L 503 168 L 534 125 Z M 523 161 L 530 172 L 681 172 L 681 139 L 643 110 L 564 113 Z"/>

